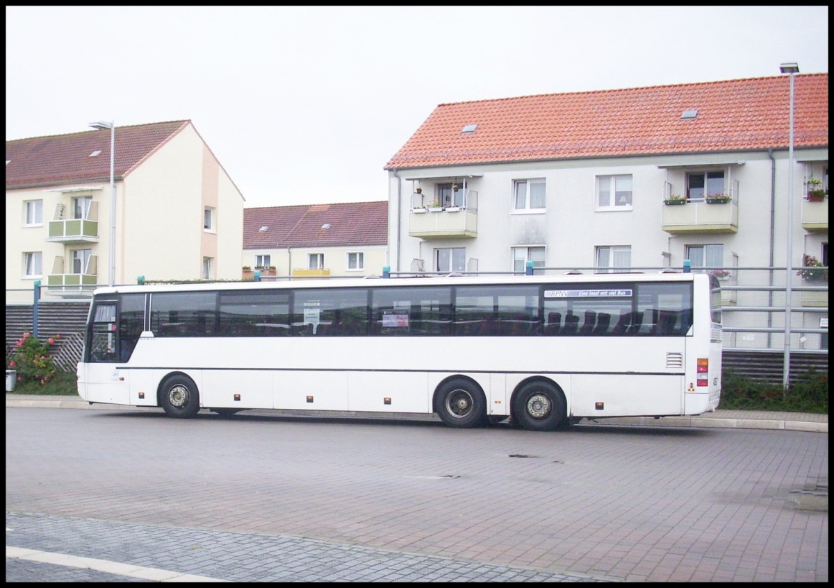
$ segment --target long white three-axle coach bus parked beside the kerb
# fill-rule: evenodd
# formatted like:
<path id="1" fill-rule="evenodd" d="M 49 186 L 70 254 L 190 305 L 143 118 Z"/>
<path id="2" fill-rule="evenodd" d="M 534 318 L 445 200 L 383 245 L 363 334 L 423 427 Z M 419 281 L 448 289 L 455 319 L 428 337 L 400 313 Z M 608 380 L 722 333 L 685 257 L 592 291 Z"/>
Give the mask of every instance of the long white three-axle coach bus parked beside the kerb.
<path id="1" fill-rule="evenodd" d="M 434 412 L 531 431 L 699 415 L 721 396 L 721 291 L 683 272 L 101 287 L 78 393 L 178 418 Z"/>

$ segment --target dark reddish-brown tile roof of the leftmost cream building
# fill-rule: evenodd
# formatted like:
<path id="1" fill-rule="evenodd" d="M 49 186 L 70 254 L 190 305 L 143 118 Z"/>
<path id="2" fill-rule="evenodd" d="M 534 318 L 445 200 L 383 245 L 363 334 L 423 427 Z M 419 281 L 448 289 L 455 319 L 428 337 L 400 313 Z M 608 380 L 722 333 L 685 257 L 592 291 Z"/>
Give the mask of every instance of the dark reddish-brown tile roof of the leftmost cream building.
<path id="1" fill-rule="evenodd" d="M 115 177 L 121 178 L 190 121 L 116 126 Z M 90 154 L 101 151 L 97 156 Z M 110 131 L 33 137 L 6 142 L 6 189 L 55 186 L 110 179 Z"/>

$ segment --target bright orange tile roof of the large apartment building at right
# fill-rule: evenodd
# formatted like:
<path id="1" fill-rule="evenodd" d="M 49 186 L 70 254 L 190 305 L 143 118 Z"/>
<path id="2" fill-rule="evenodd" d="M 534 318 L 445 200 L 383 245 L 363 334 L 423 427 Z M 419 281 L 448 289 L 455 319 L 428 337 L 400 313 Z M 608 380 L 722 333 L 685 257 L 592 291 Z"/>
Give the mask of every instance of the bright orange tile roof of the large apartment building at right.
<path id="1" fill-rule="evenodd" d="M 828 74 L 794 89 L 794 146 L 827 147 Z M 384 169 L 787 148 L 789 98 L 777 76 L 440 104 Z"/>

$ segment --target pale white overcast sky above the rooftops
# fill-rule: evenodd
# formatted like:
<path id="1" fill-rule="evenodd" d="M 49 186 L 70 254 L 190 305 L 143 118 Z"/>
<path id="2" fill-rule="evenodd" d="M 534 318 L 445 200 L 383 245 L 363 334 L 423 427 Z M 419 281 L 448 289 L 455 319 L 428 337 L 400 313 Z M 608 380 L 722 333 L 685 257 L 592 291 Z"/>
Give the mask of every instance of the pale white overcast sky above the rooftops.
<path id="1" fill-rule="evenodd" d="M 828 72 L 828 7 L 6 7 L 6 139 L 190 119 L 247 207 L 386 200 L 438 104 Z"/>

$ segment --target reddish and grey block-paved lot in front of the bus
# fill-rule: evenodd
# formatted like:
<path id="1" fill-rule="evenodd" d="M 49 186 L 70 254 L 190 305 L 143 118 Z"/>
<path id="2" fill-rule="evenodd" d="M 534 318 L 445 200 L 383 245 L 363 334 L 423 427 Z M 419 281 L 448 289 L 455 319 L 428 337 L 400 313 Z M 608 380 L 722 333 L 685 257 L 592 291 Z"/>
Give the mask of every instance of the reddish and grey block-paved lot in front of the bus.
<path id="1" fill-rule="evenodd" d="M 226 581 L 827 581 L 827 464 L 803 431 L 7 408 L 7 579 L 55 566 L 12 547 Z"/>

